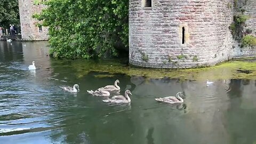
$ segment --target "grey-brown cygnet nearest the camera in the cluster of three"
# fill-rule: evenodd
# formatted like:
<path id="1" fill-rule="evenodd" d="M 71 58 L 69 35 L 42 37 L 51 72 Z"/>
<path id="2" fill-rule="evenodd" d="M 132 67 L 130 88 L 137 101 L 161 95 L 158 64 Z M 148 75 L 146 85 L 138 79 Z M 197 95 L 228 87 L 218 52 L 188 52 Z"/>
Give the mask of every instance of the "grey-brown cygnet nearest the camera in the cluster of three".
<path id="1" fill-rule="evenodd" d="M 128 94 L 131 94 L 130 90 L 126 90 L 123 95 L 116 95 L 113 96 L 111 99 L 102 100 L 103 102 L 111 102 L 111 103 L 129 103 L 131 102 L 131 99 Z"/>

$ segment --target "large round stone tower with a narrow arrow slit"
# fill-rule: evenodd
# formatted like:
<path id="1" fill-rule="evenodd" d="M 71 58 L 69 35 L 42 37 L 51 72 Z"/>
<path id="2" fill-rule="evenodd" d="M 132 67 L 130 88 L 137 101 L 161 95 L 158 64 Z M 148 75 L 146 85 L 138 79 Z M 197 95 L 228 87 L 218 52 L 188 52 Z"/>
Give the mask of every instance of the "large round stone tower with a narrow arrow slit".
<path id="1" fill-rule="evenodd" d="M 130 0 L 129 5 L 131 65 L 190 68 L 231 57 L 233 0 Z"/>

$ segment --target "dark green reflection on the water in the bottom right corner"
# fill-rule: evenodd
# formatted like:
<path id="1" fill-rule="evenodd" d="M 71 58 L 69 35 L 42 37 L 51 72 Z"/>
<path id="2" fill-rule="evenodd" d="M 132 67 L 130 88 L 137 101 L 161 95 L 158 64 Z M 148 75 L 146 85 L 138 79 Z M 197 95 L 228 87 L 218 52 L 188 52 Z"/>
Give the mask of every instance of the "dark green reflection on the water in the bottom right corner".
<path id="1" fill-rule="evenodd" d="M 231 79 L 231 90 L 228 92 L 230 104 L 227 110 L 226 127 L 230 143 L 255 143 L 256 97 L 253 81 L 242 82 L 242 79 Z"/>

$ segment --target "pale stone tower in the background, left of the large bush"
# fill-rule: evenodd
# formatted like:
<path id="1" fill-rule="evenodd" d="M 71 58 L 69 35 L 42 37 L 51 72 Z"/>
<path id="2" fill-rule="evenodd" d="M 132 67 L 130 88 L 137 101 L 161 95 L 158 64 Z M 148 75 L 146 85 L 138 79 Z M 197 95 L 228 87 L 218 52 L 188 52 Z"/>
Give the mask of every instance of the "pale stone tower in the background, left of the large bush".
<path id="1" fill-rule="evenodd" d="M 34 5 L 33 0 L 19 0 L 20 27 L 23 40 L 47 40 L 48 29 L 42 31 L 36 26 L 37 20 L 32 18 L 34 13 L 39 13 L 45 5 Z"/>

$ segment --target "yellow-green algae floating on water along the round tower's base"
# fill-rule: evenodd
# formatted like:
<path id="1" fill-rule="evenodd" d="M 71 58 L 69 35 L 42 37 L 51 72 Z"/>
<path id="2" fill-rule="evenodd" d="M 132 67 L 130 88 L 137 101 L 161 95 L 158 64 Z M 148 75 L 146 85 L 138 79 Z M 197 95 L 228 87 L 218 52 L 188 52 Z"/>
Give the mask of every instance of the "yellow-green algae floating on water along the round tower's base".
<path id="1" fill-rule="evenodd" d="M 255 60 L 236 60 L 222 63 L 221 65 L 207 68 L 195 69 L 146 69 L 136 68 L 122 63 L 118 60 L 75 60 L 70 61 L 75 69 L 77 77 L 83 77 L 90 71 L 99 73 L 108 73 L 99 75 L 100 77 L 113 77 L 114 74 L 125 74 L 129 76 L 145 76 L 147 78 L 178 78 L 202 80 L 211 79 L 256 79 L 256 61 Z M 250 71 L 250 73 L 241 73 L 241 71 Z"/>

